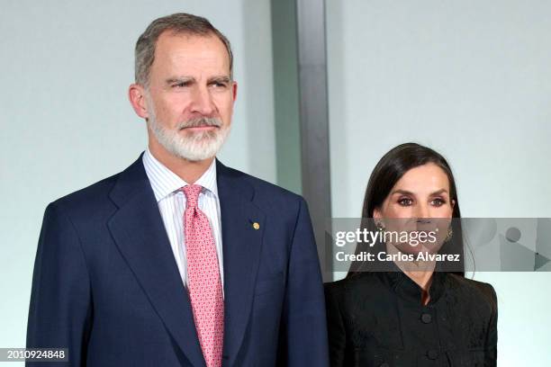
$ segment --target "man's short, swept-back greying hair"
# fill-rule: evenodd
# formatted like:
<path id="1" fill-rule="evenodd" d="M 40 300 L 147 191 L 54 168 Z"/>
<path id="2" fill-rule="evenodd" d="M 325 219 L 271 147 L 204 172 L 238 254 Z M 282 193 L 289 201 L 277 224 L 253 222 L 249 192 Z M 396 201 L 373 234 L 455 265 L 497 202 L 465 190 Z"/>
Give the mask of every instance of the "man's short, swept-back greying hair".
<path id="1" fill-rule="evenodd" d="M 149 86 L 149 70 L 155 59 L 155 45 L 158 37 L 164 31 L 172 31 L 175 34 L 216 36 L 228 50 L 228 56 L 230 57 L 230 78 L 233 79 L 233 54 L 231 53 L 230 40 L 202 16 L 175 13 L 151 22 L 136 42 L 134 75 L 137 84 L 145 87 Z"/>

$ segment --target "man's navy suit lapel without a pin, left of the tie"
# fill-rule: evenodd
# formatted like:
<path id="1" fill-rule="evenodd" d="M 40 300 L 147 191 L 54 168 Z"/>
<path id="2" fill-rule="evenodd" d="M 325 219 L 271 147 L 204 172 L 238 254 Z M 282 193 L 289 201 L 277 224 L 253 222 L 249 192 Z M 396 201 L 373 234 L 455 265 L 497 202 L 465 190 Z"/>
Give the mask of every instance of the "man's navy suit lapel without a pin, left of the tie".
<path id="1" fill-rule="evenodd" d="M 122 172 L 111 198 L 119 210 L 108 226 L 122 256 L 187 359 L 204 366 L 191 303 L 141 157 Z"/>

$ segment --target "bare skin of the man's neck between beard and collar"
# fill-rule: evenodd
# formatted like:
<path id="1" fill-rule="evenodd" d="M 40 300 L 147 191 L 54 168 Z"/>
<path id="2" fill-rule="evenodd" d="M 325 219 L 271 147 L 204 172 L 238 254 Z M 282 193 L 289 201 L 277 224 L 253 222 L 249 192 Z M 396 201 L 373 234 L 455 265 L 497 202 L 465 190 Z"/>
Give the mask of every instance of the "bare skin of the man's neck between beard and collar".
<path id="1" fill-rule="evenodd" d="M 190 161 L 188 159 L 175 157 L 167 152 L 164 148 L 154 147 L 149 144 L 149 152 L 160 163 L 167 166 L 167 168 L 174 172 L 178 177 L 184 180 L 186 183 L 195 183 L 212 164 L 214 157 L 203 159 L 201 161 Z"/>

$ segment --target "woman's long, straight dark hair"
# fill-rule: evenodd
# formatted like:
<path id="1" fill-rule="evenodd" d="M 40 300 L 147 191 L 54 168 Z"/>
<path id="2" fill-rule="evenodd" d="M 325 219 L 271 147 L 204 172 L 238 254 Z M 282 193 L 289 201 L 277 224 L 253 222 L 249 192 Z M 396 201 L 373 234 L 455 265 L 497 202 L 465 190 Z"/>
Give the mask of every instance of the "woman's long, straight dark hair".
<path id="1" fill-rule="evenodd" d="M 435 164 L 440 167 L 447 175 L 449 181 L 449 199 L 455 201 L 455 205 L 452 212 L 452 218 L 461 218 L 461 212 L 459 210 L 459 201 L 457 199 L 456 180 L 452 174 L 450 166 L 447 161 L 438 152 L 431 148 L 423 147 L 416 143 L 401 144 L 393 149 L 381 158 L 379 163 L 375 166 L 369 182 L 367 183 L 366 196 L 364 199 L 364 208 L 362 210 L 362 224 L 361 228 L 367 228 L 368 230 L 376 230 L 373 213 L 377 208 L 381 208 L 384 200 L 389 195 L 394 185 L 402 178 L 402 176 L 418 166 L 424 166 L 426 164 Z M 458 275 L 465 275 L 465 263 L 463 261 L 463 236 L 461 231 L 461 223 L 459 220 L 452 220 L 453 236 L 449 241 L 438 251 L 439 254 L 457 254 L 459 251 L 461 264 L 454 267 Z M 454 250 L 455 249 L 455 250 Z M 384 243 L 375 243 L 375 246 L 367 248 L 366 244 L 358 243 L 356 253 L 359 254 L 362 251 L 368 250 L 371 253 L 379 253 L 386 251 Z M 376 258 L 376 256 L 375 256 Z M 350 265 L 347 276 L 354 275 L 356 273 L 375 270 L 377 262 L 353 262 Z"/>

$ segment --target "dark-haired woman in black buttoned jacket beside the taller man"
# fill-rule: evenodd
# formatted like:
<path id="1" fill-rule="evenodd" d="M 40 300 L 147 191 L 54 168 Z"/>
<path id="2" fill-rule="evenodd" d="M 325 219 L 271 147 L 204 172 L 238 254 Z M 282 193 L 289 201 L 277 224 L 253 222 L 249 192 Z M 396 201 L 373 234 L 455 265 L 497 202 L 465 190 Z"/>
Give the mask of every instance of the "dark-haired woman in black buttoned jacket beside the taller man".
<path id="1" fill-rule="evenodd" d="M 446 159 L 414 143 L 393 148 L 369 178 L 362 217 L 362 226 L 373 227 L 371 221 L 380 238 L 389 228 L 411 233 L 411 223 L 435 229 L 444 221 L 447 230 L 432 247 L 395 239 L 358 244 L 357 252 L 402 257 L 375 255 L 373 262 L 352 264 L 346 279 L 326 284 L 331 366 L 495 366 L 492 285 L 465 279 L 463 262 L 444 269 L 415 257 L 463 255 L 459 220 L 453 220 L 460 218 L 456 183 Z"/>

